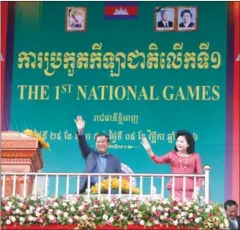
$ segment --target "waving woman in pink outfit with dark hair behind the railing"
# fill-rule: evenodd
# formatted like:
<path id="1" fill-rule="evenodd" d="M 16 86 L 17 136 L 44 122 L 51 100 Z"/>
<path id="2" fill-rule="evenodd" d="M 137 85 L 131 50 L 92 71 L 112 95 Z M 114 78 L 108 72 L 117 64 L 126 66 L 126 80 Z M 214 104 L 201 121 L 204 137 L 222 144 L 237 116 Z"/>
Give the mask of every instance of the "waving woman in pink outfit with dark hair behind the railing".
<path id="1" fill-rule="evenodd" d="M 174 150 L 163 156 L 156 156 L 148 140 L 143 137 L 142 145 L 152 160 L 157 164 L 170 164 L 173 174 L 202 174 L 201 159 L 198 153 L 195 153 L 195 141 L 193 136 L 184 130 L 176 133 L 176 145 Z M 192 200 L 199 194 L 202 185 L 202 178 L 196 178 L 196 188 L 194 194 L 194 178 L 186 177 L 185 200 Z M 170 196 L 173 195 L 172 179 L 167 184 Z M 178 201 L 183 200 L 183 178 L 175 177 L 174 198 Z"/>

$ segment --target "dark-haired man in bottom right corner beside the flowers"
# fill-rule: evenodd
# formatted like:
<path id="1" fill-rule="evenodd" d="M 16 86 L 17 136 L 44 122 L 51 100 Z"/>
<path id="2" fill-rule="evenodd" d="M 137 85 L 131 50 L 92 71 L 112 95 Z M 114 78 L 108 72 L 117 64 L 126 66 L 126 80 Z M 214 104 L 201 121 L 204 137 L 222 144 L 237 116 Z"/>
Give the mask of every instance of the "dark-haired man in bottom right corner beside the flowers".
<path id="1" fill-rule="evenodd" d="M 240 229 L 240 217 L 238 215 L 238 204 L 234 200 L 227 200 L 224 209 L 229 221 L 229 229 Z"/>

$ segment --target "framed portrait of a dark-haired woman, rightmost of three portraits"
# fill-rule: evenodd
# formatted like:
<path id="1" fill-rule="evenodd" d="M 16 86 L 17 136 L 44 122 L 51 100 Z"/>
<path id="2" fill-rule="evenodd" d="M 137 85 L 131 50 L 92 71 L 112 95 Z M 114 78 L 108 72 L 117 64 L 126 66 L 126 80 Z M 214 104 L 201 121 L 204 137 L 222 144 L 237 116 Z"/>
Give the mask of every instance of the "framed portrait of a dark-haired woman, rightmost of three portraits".
<path id="1" fill-rule="evenodd" d="M 198 27 L 197 7 L 178 7 L 178 31 L 196 31 Z"/>

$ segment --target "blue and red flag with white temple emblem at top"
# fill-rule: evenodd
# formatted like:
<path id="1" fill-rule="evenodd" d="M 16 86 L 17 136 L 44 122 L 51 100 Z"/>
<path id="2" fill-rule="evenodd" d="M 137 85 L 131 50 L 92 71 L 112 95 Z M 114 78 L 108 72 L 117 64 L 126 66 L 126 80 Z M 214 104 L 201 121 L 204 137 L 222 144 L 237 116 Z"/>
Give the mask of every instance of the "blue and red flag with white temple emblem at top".
<path id="1" fill-rule="evenodd" d="M 138 2 L 105 2 L 105 19 L 137 19 Z"/>

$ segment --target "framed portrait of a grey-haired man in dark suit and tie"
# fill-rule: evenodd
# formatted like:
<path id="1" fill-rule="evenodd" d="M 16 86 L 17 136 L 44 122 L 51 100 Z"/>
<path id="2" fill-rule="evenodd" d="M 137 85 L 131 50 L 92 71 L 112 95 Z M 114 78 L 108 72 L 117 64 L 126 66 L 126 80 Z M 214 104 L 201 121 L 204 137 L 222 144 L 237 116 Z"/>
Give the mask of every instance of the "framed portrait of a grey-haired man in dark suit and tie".
<path id="1" fill-rule="evenodd" d="M 155 31 L 176 30 L 176 10 L 175 7 L 155 7 Z"/>

